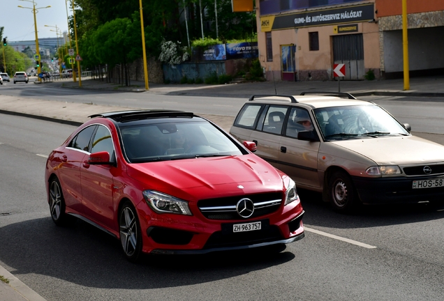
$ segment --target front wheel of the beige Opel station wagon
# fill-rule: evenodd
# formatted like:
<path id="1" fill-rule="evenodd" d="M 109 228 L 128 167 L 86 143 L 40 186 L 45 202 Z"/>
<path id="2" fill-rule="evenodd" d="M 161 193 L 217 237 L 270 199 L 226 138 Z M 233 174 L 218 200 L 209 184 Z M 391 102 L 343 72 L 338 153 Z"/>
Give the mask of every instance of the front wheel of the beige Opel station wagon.
<path id="1" fill-rule="evenodd" d="M 350 213 L 359 202 L 353 182 L 344 171 L 334 171 L 328 181 L 328 197 L 334 210 Z"/>

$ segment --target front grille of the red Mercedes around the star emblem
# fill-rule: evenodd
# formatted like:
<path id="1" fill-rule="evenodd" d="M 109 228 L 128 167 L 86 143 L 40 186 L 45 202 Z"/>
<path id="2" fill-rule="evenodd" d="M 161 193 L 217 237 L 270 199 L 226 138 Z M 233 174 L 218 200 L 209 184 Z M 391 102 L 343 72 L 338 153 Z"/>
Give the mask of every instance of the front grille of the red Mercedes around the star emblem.
<path id="1" fill-rule="evenodd" d="M 254 203 L 254 211 L 249 219 L 252 219 L 274 213 L 278 210 L 282 203 L 282 196 L 281 192 L 269 192 L 264 194 L 205 199 L 198 201 L 198 207 L 202 215 L 207 217 L 207 219 L 243 219 L 244 217 L 237 214 L 237 202 L 241 199 L 251 199 Z"/>

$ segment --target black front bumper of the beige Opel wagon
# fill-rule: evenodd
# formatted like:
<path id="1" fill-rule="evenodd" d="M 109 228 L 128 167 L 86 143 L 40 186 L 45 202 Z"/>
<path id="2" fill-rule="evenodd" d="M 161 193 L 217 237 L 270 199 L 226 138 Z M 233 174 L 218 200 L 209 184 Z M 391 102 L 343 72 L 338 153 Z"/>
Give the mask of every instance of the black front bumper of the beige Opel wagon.
<path id="1" fill-rule="evenodd" d="M 353 177 L 353 183 L 362 203 L 421 203 L 444 201 L 444 187 L 413 189 L 414 180 L 443 180 L 444 176 L 360 178 Z"/>

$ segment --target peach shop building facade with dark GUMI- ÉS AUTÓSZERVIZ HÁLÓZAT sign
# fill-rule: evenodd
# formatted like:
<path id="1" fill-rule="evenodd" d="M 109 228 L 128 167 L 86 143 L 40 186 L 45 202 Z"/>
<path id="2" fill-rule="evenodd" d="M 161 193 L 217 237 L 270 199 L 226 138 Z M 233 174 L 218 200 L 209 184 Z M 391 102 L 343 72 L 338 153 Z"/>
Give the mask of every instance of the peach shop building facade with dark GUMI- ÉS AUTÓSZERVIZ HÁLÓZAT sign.
<path id="1" fill-rule="evenodd" d="M 331 80 L 335 63 L 346 65 L 346 80 L 364 79 L 369 70 L 376 79 L 401 77 L 401 3 L 256 0 L 259 59 L 267 80 Z M 442 0 L 407 0 L 413 75 L 444 68 L 444 57 L 438 57 L 444 49 L 442 6 Z"/>

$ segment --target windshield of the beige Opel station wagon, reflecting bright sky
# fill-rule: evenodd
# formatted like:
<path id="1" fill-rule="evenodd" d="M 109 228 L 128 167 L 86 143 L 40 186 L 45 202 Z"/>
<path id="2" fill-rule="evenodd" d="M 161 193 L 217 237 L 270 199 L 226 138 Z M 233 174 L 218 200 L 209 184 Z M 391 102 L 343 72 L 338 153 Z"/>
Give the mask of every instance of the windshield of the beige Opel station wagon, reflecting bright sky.
<path id="1" fill-rule="evenodd" d="M 326 107 L 315 109 L 314 114 L 326 140 L 410 134 L 377 105 Z"/>

